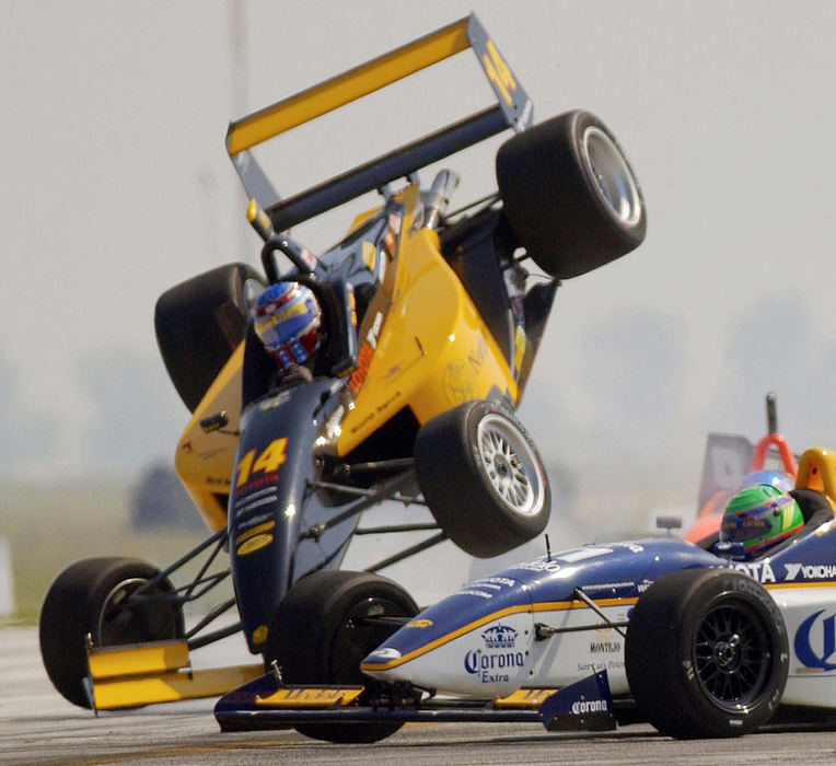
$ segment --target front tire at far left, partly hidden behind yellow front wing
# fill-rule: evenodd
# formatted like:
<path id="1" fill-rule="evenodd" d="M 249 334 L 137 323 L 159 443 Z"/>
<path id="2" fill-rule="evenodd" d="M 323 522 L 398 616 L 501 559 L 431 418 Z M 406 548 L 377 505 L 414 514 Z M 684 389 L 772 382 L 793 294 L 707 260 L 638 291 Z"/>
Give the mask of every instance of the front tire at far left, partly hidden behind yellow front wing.
<path id="1" fill-rule="evenodd" d="M 90 708 L 86 637 L 93 646 L 144 643 L 181 638 L 183 608 L 160 599 L 174 588 L 167 579 L 151 597 L 125 605 L 127 595 L 160 570 L 136 558 L 85 558 L 71 564 L 53 582 L 40 607 L 40 657 L 53 686 L 68 701 Z"/>

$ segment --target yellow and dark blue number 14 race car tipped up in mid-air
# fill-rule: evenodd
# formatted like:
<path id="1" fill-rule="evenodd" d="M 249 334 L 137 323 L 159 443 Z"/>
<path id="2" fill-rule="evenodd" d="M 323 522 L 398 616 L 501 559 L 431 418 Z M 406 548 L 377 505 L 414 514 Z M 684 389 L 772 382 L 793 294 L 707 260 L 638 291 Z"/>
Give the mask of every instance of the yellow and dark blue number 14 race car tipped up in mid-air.
<path id="1" fill-rule="evenodd" d="M 494 105 L 278 197 L 258 144 L 467 49 Z M 453 171 L 421 185 L 419 171 L 503 130 L 513 136 L 496 155 L 498 193 L 451 212 Z M 336 579 L 318 594 L 335 600 L 318 674 L 350 681 L 417 612 L 378 570 L 448 538 L 490 557 L 539 534 L 548 478 L 513 413 L 555 292 L 645 237 L 641 192 L 612 132 L 583 111 L 533 125 L 531 100 L 474 15 L 232 123 L 227 148 L 264 241 L 263 271 L 220 266 L 169 290 L 155 313 L 163 360 L 193 413 L 176 468 L 211 536 L 162 572 L 97 558 L 57 578 L 42 653 L 55 686 L 81 706 L 228 690 L 260 665 L 201 675 L 189 672 L 189 651 L 239 629 L 253 653 L 286 662 L 306 640 L 286 596 L 320 570 Z M 374 192 L 376 206 L 325 253 L 288 234 Z M 385 500 L 425 503 L 434 523 L 375 532 L 426 529 L 427 538 L 365 572 L 339 570 L 362 512 Z M 208 574 L 227 552 L 229 568 Z M 198 576 L 175 588 L 173 572 L 205 554 Z M 186 632 L 184 603 L 228 574 L 235 599 Z M 231 608 L 240 623 L 211 630 Z"/>

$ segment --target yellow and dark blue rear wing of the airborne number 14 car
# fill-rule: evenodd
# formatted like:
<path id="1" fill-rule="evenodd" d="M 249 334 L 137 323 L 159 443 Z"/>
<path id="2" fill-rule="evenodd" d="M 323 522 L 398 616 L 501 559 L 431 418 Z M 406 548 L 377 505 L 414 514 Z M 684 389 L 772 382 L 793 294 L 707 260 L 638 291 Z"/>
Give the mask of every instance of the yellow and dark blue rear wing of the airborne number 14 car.
<path id="1" fill-rule="evenodd" d="M 345 106 L 427 67 L 472 48 L 497 97 L 497 104 L 448 125 L 411 143 L 280 200 L 249 150 L 309 120 Z M 276 231 L 306 221 L 395 178 L 512 128 L 532 121 L 533 104 L 471 14 L 453 24 L 326 80 L 230 124 L 227 150 L 247 195 L 264 208 Z"/>

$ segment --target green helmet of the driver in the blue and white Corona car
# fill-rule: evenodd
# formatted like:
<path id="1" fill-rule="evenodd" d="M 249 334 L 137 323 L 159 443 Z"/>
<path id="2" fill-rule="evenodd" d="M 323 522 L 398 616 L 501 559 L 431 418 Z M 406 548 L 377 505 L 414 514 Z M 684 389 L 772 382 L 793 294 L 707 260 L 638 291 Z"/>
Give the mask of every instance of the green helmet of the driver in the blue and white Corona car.
<path id="1" fill-rule="evenodd" d="M 725 507 L 720 541 L 743 543 L 744 557 L 757 558 L 804 525 L 789 492 L 759 485 L 741 489 Z"/>

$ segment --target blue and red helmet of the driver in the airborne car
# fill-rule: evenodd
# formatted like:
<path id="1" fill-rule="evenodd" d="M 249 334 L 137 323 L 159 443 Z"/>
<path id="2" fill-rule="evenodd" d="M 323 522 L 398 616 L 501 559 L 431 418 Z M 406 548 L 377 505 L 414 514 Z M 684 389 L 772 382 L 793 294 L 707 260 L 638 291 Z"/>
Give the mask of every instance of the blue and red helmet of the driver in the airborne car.
<path id="1" fill-rule="evenodd" d="M 253 324 L 280 369 L 304 364 L 320 347 L 322 311 L 310 288 L 275 282 L 253 305 Z"/>

